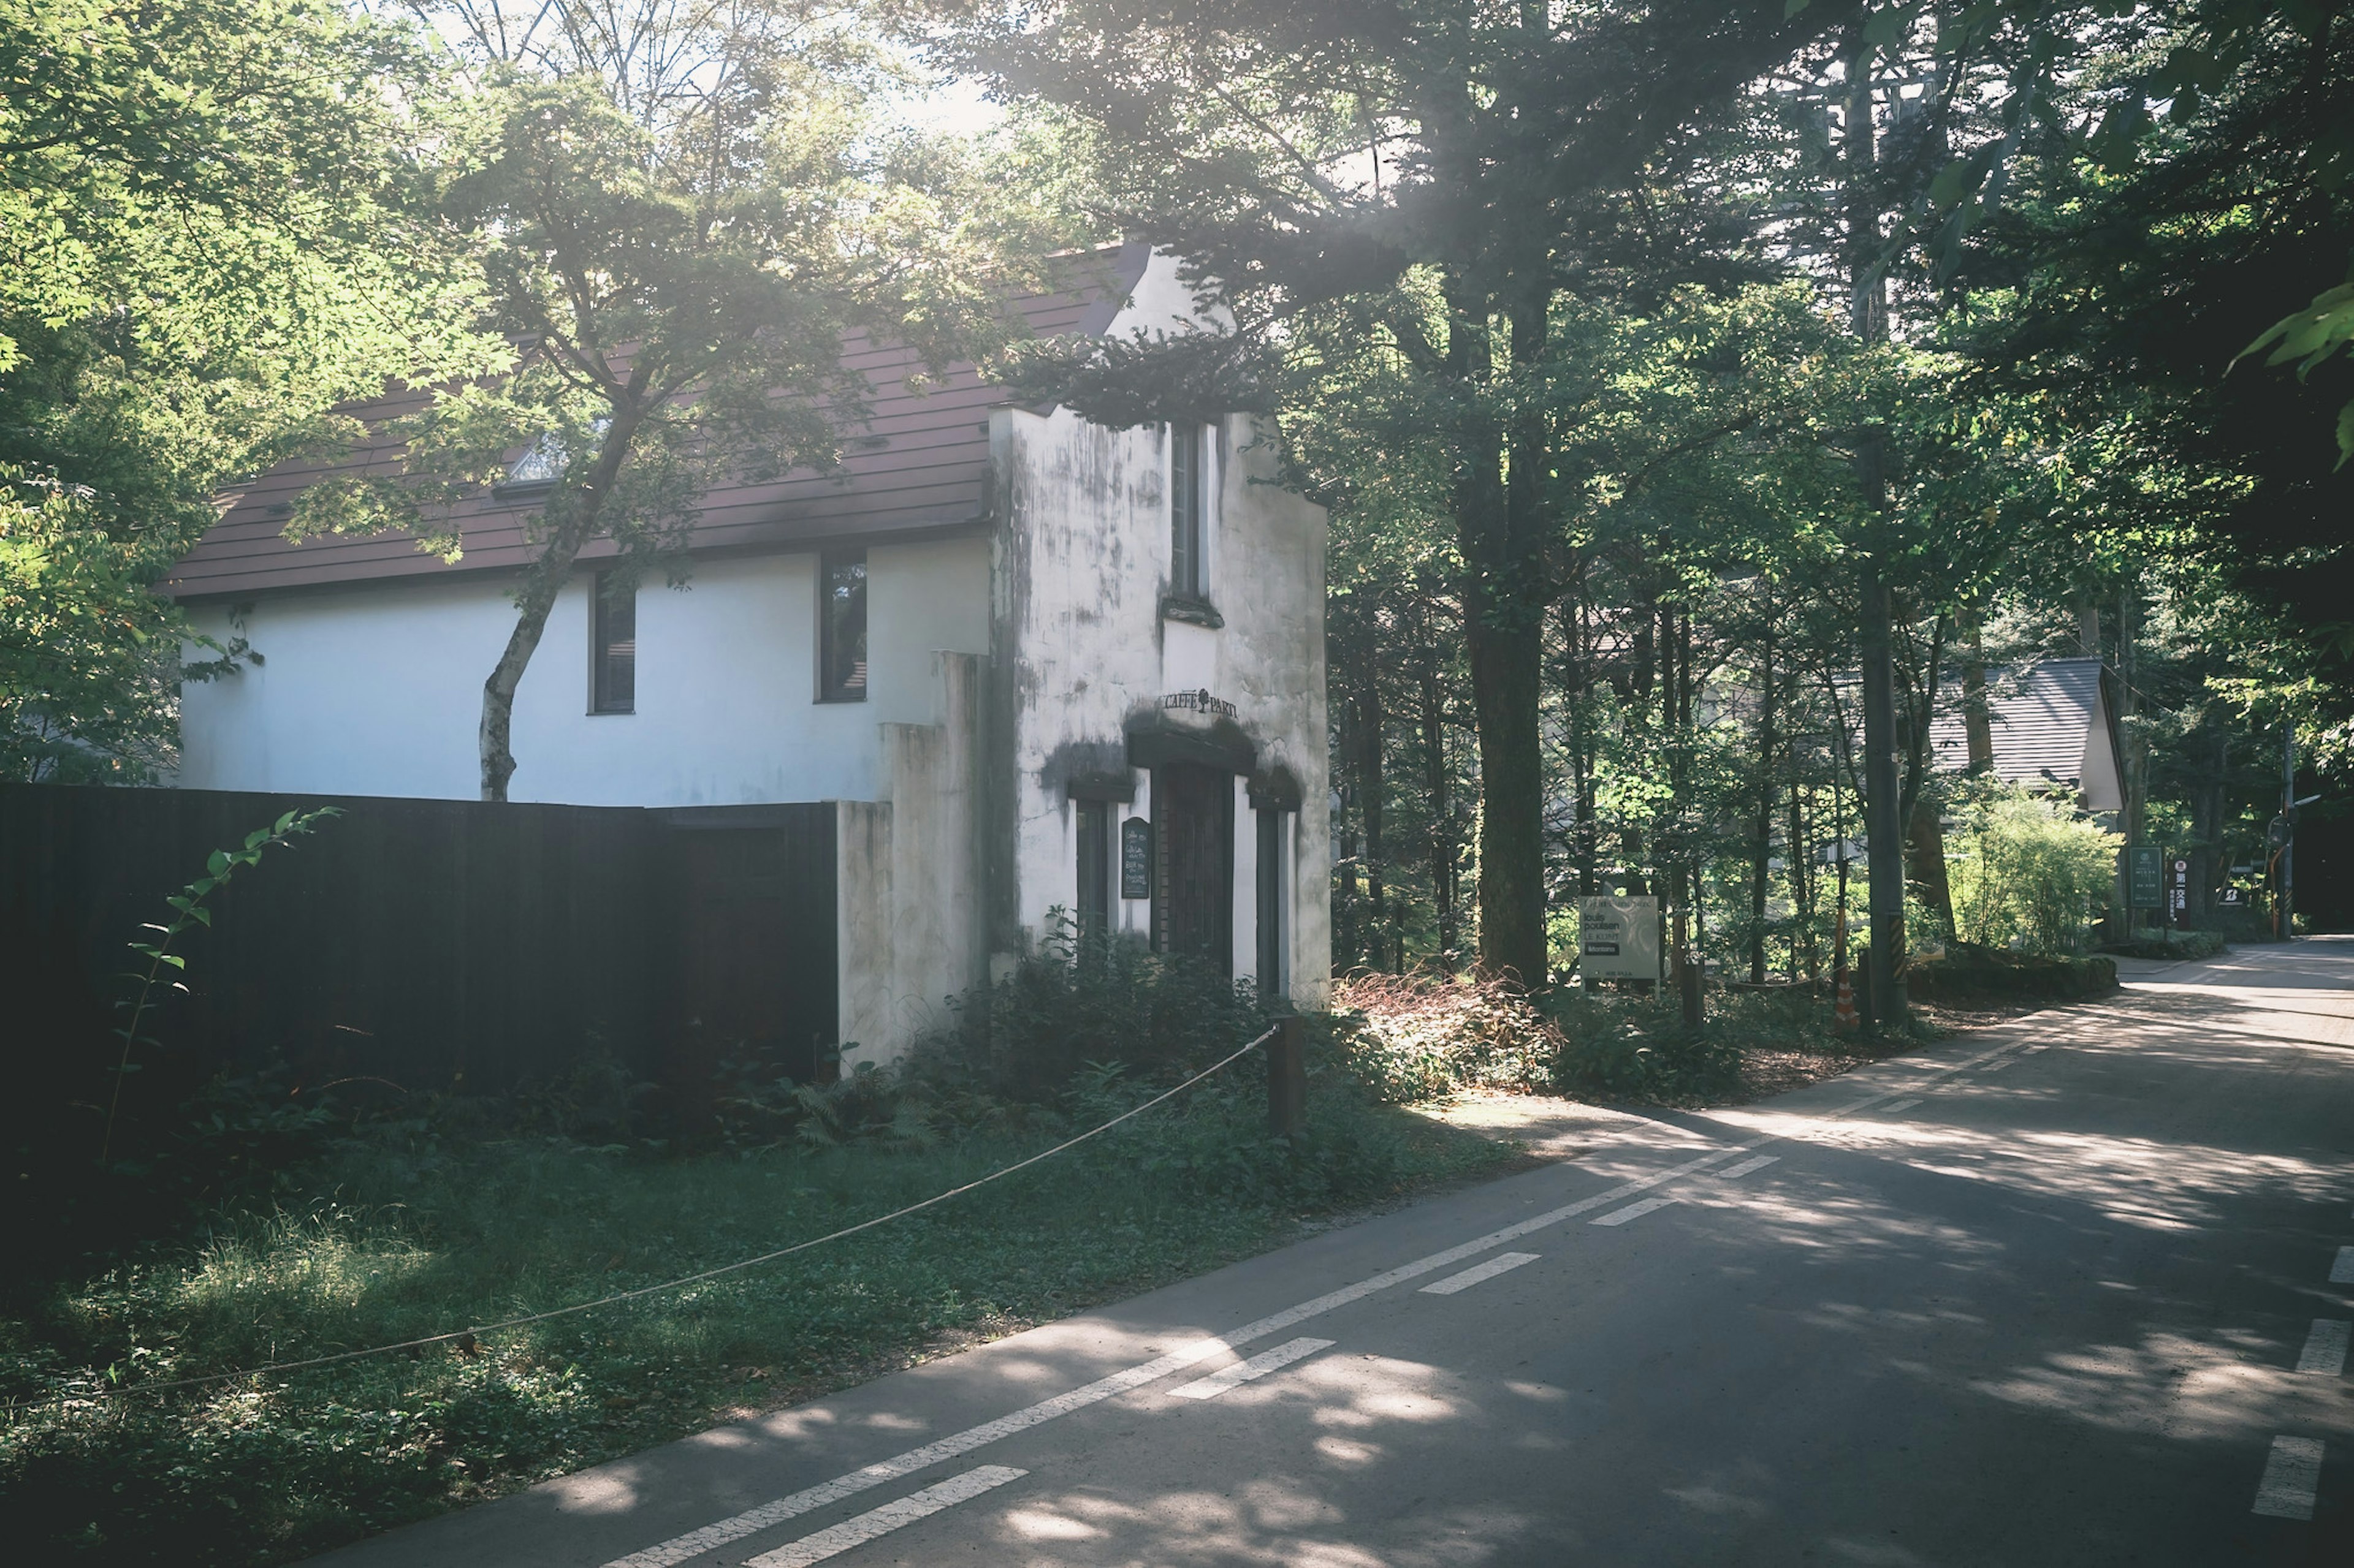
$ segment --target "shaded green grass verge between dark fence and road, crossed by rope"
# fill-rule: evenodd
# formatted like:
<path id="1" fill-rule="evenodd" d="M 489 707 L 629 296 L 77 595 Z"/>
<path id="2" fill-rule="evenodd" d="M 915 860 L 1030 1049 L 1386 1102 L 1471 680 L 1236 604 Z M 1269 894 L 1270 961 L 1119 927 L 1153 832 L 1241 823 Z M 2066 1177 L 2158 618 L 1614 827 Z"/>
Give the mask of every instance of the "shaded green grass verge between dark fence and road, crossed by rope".
<path id="1" fill-rule="evenodd" d="M 1099 1083 L 1085 1125 L 1139 1088 Z M 1295 1149 L 1248 1083 L 843 1243 L 386 1358 L 184 1394 L 101 1387 L 332 1354 L 732 1262 L 1055 1142 L 967 1135 L 659 1158 L 570 1142 L 346 1140 L 231 1210 L 0 1318 L 0 1540 L 19 1561 L 268 1563 L 516 1490 L 937 1347 L 1212 1269 L 1299 1217 L 1478 1175 L 1488 1140 L 1321 1078 Z"/>

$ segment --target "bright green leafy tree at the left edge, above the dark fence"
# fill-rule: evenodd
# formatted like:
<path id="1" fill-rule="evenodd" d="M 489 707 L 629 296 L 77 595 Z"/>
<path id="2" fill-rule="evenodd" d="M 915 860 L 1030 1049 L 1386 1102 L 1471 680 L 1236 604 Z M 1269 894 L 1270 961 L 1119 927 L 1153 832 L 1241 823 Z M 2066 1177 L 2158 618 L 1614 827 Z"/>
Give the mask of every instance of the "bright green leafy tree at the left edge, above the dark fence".
<path id="1" fill-rule="evenodd" d="M 414 200 L 450 104 L 322 0 L 0 0 L 0 777 L 144 779 L 242 652 L 155 593 L 214 490 L 490 363 Z"/>

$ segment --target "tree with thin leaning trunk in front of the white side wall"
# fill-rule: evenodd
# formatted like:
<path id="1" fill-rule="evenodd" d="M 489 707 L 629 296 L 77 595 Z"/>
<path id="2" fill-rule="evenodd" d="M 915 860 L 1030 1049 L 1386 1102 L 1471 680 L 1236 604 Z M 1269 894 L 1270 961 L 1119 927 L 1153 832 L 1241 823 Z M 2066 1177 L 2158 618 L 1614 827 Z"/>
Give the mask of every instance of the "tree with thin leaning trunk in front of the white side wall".
<path id="1" fill-rule="evenodd" d="M 395 424 L 398 478 L 330 480 L 294 532 L 405 527 L 457 556 L 447 518 L 518 452 L 553 473 L 483 683 L 480 786 L 504 800 L 508 725 L 548 612 L 591 539 L 619 572 L 687 572 L 720 473 L 829 469 L 866 412 L 852 334 L 930 370 L 1003 344 L 1029 247 L 982 170 L 878 115 L 885 61 L 817 0 L 737 7 L 459 0 L 487 134 L 443 210 L 483 245 L 487 325 L 518 346 L 492 379 L 431 388 Z"/>

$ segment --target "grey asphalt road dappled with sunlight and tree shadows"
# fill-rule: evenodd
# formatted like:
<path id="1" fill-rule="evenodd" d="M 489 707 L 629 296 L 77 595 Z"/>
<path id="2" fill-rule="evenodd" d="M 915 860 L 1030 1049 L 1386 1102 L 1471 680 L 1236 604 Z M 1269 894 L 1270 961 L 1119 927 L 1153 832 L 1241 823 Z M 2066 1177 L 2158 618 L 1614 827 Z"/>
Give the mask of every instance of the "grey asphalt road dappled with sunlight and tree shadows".
<path id="1" fill-rule="evenodd" d="M 2133 968 L 322 1561 L 2345 1568 L 2354 944 Z"/>

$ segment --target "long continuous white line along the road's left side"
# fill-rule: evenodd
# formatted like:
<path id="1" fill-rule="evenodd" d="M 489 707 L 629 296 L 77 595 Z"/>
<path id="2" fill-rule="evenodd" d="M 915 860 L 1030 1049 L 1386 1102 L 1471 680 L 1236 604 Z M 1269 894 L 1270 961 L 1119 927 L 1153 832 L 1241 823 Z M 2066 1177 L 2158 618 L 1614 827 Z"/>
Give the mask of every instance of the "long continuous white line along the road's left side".
<path id="1" fill-rule="evenodd" d="M 1930 1071 L 1921 1083 L 1907 1088 L 1926 1088 L 1926 1083 L 1930 1081 L 1951 1078 L 1954 1074 L 1966 1074 L 2008 1050 L 2017 1050 L 2017 1045 L 1996 1045 L 1991 1050 L 1982 1050 L 1968 1062 L 1940 1067 Z M 1897 1095 L 1897 1090 L 1893 1088 L 1881 1090 L 1876 1095 L 1864 1095 L 1862 1099 L 1843 1104 L 1836 1111 L 1824 1111 L 1824 1121 L 1836 1121 L 1841 1116 L 1855 1116 L 1857 1111 L 1869 1111 L 1871 1107 L 1881 1104 L 1883 1099 L 1890 1099 L 1893 1095 Z M 1681 1165 L 1669 1165 L 1667 1170 L 1660 1170 L 1648 1177 L 1631 1177 L 1627 1182 L 1620 1182 L 1610 1191 L 1598 1191 L 1591 1198 L 1580 1198 L 1577 1203 L 1563 1203 L 1561 1208 L 1532 1215 L 1516 1224 L 1507 1224 L 1499 1231 L 1474 1236 L 1471 1241 L 1452 1245 L 1443 1253 L 1431 1253 L 1429 1257 L 1417 1257 L 1415 1262 L 1398 1264 L 1396 1269 L 1384 1269 L 1382 1274 L 1361 1278 L 1354 1285 L 1328 1290 L 1325 1295 L 1299 1302 L 1297 1307 L 1285 1307 L 1283 1311 L 1274 1311 L 1252 1323 L 1243 1323 L 1241 1328 L 1229 1330 L 1224 1335 L 1182 1344 L 1168 1356 L 1156 1356 L 1153 1361 L 1144 1361 L 1142 1366 L 1132 1366 L 1111 1373 L 1106 1377 L 1097 1377 L 1095 1382 L 1080 1384 L 1069 1394 L 1043 1398 L 1036 1406 L 1024 1406 L 1022 1410 L 1015 1410 L 1012 1415 L 1000 1415 L 993 1422 L 982 1422 L 979 1427 L 953 1431 L 944 1439 L 925 1443 L 923 1448 L 909 1448 L 906 1453 L 869 1464 L 866 1469 L 855 1469 L 847 1476 L 836 1476 L 833 1481 L 803 1488 L 798 1493 L 791 1493 L 789 1497 L 763 1502 L 756 1509 L 744 1509 L 742 1514 L 720 1519 L 718 1523 L 709 1523 L 699 1530 L 687 1530 L 685 1535 L 673 1535 L 671 1540 L 654 1542 L 643 1552 L 617 1556 L 610 1563 L 605 1563 L 605 1568 L 676 1568 L 676 1563 L 685 1563 L 687 1559 L 701 1556 L 704 1552 L 716 1552 L 727 1542 L 744 1540 L 746 1535 L 756 1535 L 760 1530 L 767 1530 L 770 1526 L 779 1526 L 786 1519 L 798 1519 L 800 1514 L 810 1514 L 814 1509 L 836 1504 L 845 1497 L 857 1497 L 864 1490 L 871 1490 L 887 1481 L 897 1481 L 902 1476 L 911 1476 L 918 1469 L 927 1469 L 944 1460 L 972 1453 L 975 1448 L 984 1448 L 989 1443 L 996 1443 L 998 1439 L 1008 1439 L 1017 1431 L 1029 1431 L 1031 1427 L 1043 1427 L 1045 1422 L 1071 1415 L 1073 1410 L 1085 1410 L 1088 1406 L 1097 1406 L 1106 1398 L 1130 1394 L 1149 1382 L 1161 1382 L 1170 1373 L 1198 1366 L 1210 1356 L 1217 1356 L 1219 1351 L 1241 1349 L 1252 1340 L 1266 1340 L 1269 1335 L 1278 1335 L 1285 1328 L 1292 1328 L 1295 1323 L 1306 1323 L 1309 1318 L 1318 1318 L 1339 1307 L 1349 1307 L 1351 1302 L 1361 1302 L 1368 1295 L 1379 1295 L 1382 1290 L 1389 1290 L 1391 1285 L 1403 1285 L 1410 1278 L 1422 1278 L 1424 1274 L 1438 1274 L 1441 1269 L 1452 1269 L 1467 1257 L 1492 1253 L 1507 1241 L 1518 1241 L 1521 1236 L 1530 1236 L 1547 1227 L 1561 1224 L 1563 1220 L 1575 1220 L 1577 1215 L 1594 1212 L 1596 1208 L 1608 1208 L 1610 1203 L 1631 1198 L 1638 1191 L 1648 1191 L 1653 1187 L 1660 1187 L 1662 1182 L 1688 1177 L 1697 1170 L 1716 1165 L 1718 1161 L 1730 1161 L 1737 1154 L 1749 1154 L 1758 1144 L 1770 1144 L 1770 1142 L 1780 1140 L 1770 1135 L 1754 1137 L 1747 1144 L 1733 1144 L 1730 1149 L 1714 1149 L 1709 1154 L 1702 1154 L 1700 1158 L 1683 1161 Z"/>

